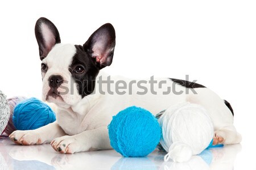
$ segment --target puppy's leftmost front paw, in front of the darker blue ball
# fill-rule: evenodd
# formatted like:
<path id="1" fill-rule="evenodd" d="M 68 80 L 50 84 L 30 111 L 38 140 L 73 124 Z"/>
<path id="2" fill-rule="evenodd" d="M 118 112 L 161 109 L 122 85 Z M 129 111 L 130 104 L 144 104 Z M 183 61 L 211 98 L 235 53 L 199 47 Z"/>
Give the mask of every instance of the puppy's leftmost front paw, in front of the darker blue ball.
<path id="1" fill-rule="evenodd" d="M 42 140 L 33 130 L 16 130 L 9 135 L 11 141 L 17 145 L 40 145 Z"/>

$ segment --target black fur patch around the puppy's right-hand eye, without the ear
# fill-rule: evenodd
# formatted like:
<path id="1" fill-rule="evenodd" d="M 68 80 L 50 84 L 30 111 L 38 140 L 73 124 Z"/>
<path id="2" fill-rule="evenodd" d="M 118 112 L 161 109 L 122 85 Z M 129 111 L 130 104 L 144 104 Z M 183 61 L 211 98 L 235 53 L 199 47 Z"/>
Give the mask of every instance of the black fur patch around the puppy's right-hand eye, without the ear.
<path id="1" fill-rule="evenodd" d="M 69 65 L 69 71 L 74 82 L 77 84 L 79 95 L 84 98 L 92 94 L 96 83 L 96 76 L 100 69 L 98 69 L 93 58 L 90 57 L 90 54 L 81 45 L 75 45 L 75 47 L 76 54 L 72 59 L 71 65 Z"/>

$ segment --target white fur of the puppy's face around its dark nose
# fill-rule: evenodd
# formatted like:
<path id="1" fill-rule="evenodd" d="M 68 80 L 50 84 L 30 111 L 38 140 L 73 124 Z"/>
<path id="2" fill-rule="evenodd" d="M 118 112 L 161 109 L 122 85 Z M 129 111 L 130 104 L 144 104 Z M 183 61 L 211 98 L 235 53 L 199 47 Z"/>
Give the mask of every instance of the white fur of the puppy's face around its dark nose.
<path id="1" fill-rule="evenodd" d="M 73 79 L 71 78 L 71 73 L 68 70 L 68 67 L 72 61 L 72 57 L 76 53 L 75 45 L 72 44 L 56 44 L 52 50 L 49 52 L 48 56 L 43 59 L 42 62 L 46 63 L 48 66 L 48 71 L 46 74 L 43 74 L 43 94 L 42 99 L 46 101 L 46 96 L 49 91 L 48 79 L 51 75 L 61 75 L 63 76 L 64 81 L 62 86 L 69 88 L 68 94 L 61 95 L 62 100 L 55 100 L 53 97 L 49 97 L 48 101 L 56 103 L 64 108 L 69 108 L 69 105 L 75 105 L 81 100 L 81 96 L 78 94 L 76 86 L 73 86 L 73 90 L 70 89 Z M 58 61 L 58 62 L 56 62 Z M 63 69 L 65 68 L 65 69 Z M 60 92 L 63 92 L 63 88 L 57 89 Z M 74 93 L 74 95 L 71 94 Z"/>

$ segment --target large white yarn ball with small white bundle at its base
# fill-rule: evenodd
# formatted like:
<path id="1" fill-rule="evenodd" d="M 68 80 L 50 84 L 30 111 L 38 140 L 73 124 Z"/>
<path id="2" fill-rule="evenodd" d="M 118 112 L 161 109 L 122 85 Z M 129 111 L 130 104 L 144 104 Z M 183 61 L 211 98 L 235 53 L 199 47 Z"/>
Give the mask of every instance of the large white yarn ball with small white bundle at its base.
<path id="1" fill-rule="evenodd" d="M 159 118 L 160 143 L 174 162 L 186 162 L 200 154 L 212 141 L 214 129 L 208 112 L 198 104 L 180 103 L 168 108 Z"/>

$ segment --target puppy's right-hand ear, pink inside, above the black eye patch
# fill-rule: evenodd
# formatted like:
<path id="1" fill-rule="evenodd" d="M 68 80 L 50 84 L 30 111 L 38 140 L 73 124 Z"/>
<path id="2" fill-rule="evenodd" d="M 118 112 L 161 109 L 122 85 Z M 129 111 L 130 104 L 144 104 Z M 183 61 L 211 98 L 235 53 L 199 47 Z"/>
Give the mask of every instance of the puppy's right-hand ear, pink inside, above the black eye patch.
<path id="1" fill-rule="evenodd" d="M 84 44 L 84 50 L 94 59 L 99 69 L 111 65 L 114 48 L 115 29 L 109 23 L 98 28 Z"/>

